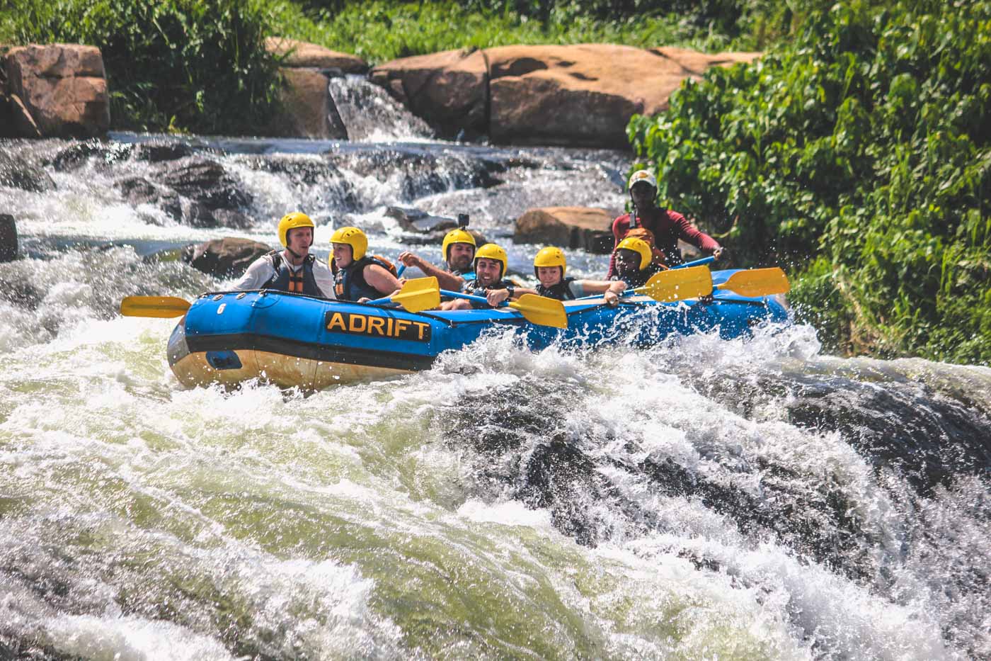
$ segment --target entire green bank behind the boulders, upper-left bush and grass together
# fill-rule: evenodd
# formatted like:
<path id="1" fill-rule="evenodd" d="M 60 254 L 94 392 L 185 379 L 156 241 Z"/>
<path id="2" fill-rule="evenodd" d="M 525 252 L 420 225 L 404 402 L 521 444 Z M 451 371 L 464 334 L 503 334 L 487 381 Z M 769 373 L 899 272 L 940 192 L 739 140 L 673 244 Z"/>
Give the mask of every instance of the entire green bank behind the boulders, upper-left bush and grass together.
<path id="1" fill-rule="evenodd" d="M 761 9 L 765 2 L 0 0 L 0 44 L 98 46 L 116 130 L 253 134 L 268 124 L 278 99 L 278 62 L 265 49 L 269 36 L 353 53 L 373 65 L 509 44 L 717 51 L 733 39 L 749 39 L 749 32 L 726 26 L 753 24 L 736 21 L 740 17 L 770 16 Z"/>

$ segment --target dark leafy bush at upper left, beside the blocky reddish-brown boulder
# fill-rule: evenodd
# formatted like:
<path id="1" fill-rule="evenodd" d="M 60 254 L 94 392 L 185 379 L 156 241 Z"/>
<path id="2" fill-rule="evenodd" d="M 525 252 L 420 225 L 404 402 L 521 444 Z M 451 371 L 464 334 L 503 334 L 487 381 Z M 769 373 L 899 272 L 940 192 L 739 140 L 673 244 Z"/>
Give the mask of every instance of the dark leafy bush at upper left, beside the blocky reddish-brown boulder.
<path id="1" fill-rule="evenodd" d="M 7 0 L 0 38 L 100 48 L 114 128 L 256 132 L 275 107 L 257 0 Z"/>

